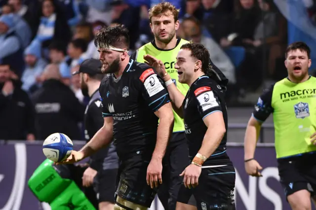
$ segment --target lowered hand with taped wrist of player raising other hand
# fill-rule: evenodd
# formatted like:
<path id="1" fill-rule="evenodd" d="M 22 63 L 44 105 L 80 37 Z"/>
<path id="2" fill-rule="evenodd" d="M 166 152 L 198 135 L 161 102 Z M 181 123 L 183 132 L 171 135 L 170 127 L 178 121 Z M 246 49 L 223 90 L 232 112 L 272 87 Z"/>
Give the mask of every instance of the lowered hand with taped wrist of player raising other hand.
<path id="1" fill-rule="evenodd" d="M 185 187 L 191 189 L 191 187 L 195 188 L 198 185 L 198 177 L 202 172 L 202 167 L 190 164 L 180 176 L 183 177 L 183 183 Z"/>

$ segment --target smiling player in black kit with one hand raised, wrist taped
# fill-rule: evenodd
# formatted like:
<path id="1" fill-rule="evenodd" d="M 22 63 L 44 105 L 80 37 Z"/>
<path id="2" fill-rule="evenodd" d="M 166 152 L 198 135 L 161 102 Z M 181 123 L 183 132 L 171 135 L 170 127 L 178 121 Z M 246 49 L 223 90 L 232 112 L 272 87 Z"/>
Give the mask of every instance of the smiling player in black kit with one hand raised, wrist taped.
<path id="1" fill-rule="evenodd" d="M 210 76 L 209 52 L 199 43 L 181 46 L 175 69 L 179 82 L 190 86 L 185 97 L 160 60 L 151 55 L 144 59 L 159 72 L 174 110 L 184 118 L 191 164 L 181 173 L 176 209 L 235 210 L 235 169 L 226 153 L 225 90 Z"/>

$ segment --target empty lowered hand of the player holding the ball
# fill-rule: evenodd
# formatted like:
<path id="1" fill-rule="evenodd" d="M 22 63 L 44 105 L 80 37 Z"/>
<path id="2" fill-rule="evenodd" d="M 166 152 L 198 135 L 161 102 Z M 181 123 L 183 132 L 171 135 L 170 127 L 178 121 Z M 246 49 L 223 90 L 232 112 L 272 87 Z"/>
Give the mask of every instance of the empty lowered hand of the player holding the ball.
<path id="1" fill-rule="evenodd" d="M 158 187 L 159 183 L 162 184 L 162 163 L 161 160 L 152 159 L 147 167 L 147 184 L 153 189 Z"/>

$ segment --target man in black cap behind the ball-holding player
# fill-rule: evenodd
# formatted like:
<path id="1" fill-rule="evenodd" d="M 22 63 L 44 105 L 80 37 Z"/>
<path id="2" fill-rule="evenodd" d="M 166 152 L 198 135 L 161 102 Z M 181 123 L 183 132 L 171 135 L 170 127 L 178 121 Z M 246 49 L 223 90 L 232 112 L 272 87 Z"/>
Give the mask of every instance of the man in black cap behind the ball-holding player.
<path id="1" fill-rule="evenodd" d="M 84 112 L 84 137 L 88 142 L 102 128 L 102 117 L 99 86 L 104 78 L 101 72 L 102 63 L 97 59 L 83 61 L 78 71 L 80 74 L 81 91 L 90 98 Z M 89 167 L 82 176 L 84 187 L 93 186 L 98 200 L 99 210 L 113 210 L 116 178 L 118 173 L 118 155 L 113 142 L 91 155 Z"/>

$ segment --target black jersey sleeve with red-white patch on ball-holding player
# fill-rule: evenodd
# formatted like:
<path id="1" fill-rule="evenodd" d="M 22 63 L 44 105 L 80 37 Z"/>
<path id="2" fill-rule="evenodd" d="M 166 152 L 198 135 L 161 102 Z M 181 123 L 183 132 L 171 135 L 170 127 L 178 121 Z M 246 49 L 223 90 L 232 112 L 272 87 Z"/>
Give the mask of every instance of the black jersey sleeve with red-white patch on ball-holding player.
<path id="1" fill-rule="evenodd" d="M 142 96 L 149 107 L 155 112 L 170 102 L 168 91 L 162 79 L 153 69 L 147 69 L 139 77 Z"/>

